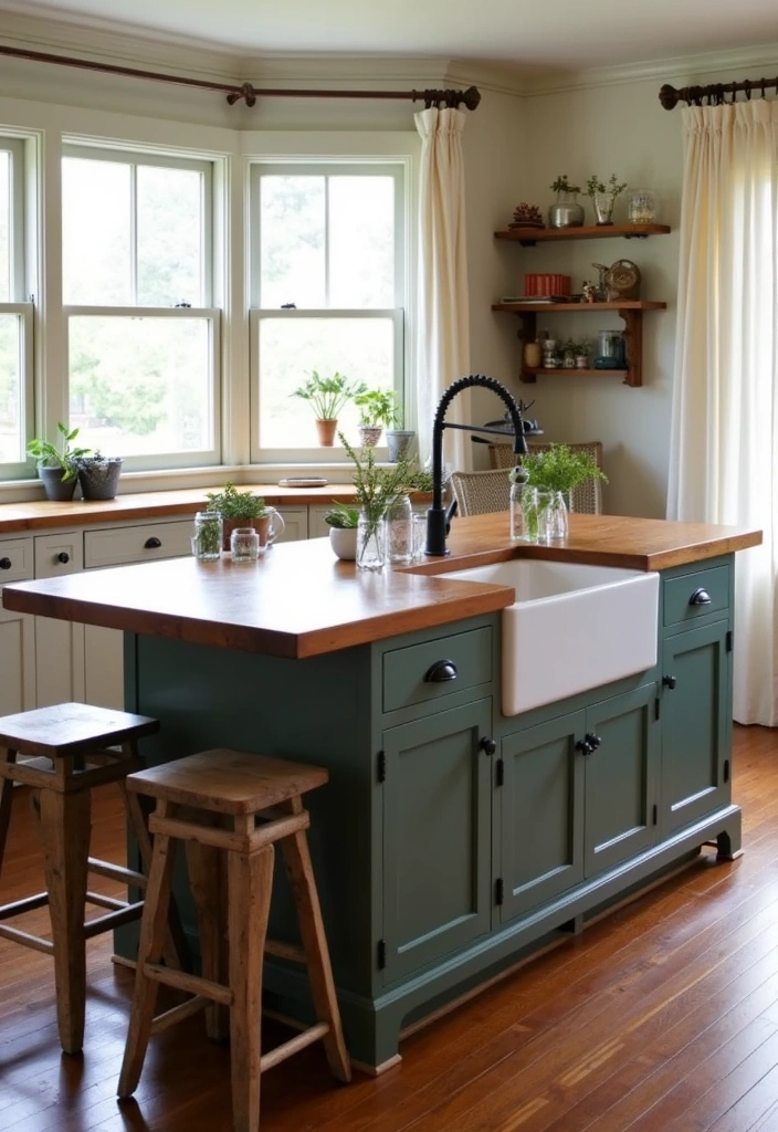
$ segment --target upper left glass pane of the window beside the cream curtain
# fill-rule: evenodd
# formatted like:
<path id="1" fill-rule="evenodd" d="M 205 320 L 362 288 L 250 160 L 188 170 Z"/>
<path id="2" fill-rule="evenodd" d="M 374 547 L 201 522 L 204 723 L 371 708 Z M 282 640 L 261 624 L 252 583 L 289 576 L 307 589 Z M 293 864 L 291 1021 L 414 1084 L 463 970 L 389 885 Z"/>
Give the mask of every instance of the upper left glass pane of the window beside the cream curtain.
<path id="1" fill-rule="evenodd" d="M 260 307 L 326 306 L 325 178 L 260 178 Z"/>

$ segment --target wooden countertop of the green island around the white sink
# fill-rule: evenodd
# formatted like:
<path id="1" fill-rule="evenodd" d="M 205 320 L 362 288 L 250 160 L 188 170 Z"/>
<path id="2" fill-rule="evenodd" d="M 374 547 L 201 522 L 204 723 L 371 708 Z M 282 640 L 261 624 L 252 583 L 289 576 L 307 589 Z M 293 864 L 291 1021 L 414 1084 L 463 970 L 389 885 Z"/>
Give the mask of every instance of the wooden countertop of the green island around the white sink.
<path id="1" fill-rule="evenodd" d="M 277 657 L 304 658 L 494 612 L 504 585 L 447 571 L 515 557 L 662 569 L 743 550 L 761 532 L 702 523 L 571 515 L 557 547 L 511 542 L 508 515 L 456 520 L 450 557 L 371 574 L 327 539 L 273 547 L 257 563 L 174 558 L 5 586 L 8 609 Z"/>

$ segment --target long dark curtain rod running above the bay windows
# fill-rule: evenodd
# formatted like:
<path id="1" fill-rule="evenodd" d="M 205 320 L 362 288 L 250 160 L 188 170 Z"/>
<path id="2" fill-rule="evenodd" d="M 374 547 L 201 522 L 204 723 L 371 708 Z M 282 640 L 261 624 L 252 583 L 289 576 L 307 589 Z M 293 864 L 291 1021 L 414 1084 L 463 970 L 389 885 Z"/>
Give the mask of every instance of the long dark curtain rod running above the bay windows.
<path id="1" fill-rule="evenodd" d="M 53 55 L 44 51 L 26 51 L 23 48 L 0 45 L 0 55 L 14 55 L 17 59 L 29 59 L 40 63 L 59 63 L 61 67 L 80 67 L 83 70 L 103 71 L 106 75 L 126 75 L 131 78 L 148 78 L 157 83 L 174 83 L 178 86 L 192 86 L 201 91 L 222 91 L 227 95 L 232 106 L 241 98 L 247 106 L 253 106 L 261 98 L 410 98 L 423 101 L 425 106 L 443 103 L 447 106 L 464 104 L 468 110 L 475 110 L 481 102 L 481 92 L 470 86 L 467 91 L 288 91 L 256 88 L 251 83 L 235 86 L 228 83 L 208 83 L 206 79 L 184 78 L 182 75 L 165 75 L 159 71 L 138 70 L 135 67 L 118 67 L 113 63 L 95 63 L 88 59 L 74 59 L 69 55 Z"/>

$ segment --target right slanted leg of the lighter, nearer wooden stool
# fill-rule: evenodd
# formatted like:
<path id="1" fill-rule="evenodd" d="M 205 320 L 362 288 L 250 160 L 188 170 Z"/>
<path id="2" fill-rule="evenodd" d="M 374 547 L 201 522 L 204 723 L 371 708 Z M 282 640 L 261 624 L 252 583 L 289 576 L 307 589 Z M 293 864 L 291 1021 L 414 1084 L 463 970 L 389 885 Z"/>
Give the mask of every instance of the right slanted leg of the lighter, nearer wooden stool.
<path id="1" fill-rule="evenodd" d="M 293 799 L 292 808 L 295 812 L 302 809 L 300 798 Z M 305 831 L 284 838 L 282 851 L 297 909 L 313 1006 L 319 1021 L 329 1023 L 329 1032 L 322 1038 L 327 1061 L 338 1081 L 351 1081 L 351 1063 L 343 1037 L 340 1010 L 335 994 L 332 967 Z"/>

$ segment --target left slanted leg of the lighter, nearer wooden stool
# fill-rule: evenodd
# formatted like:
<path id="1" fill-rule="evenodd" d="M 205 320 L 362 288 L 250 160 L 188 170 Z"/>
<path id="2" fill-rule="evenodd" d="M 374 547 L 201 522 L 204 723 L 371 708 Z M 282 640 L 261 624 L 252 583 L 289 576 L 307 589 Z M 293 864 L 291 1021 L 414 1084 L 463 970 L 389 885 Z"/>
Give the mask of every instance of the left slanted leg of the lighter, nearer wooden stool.
<path id="1" fill-rule="evenodd" d="M 157 804 L 157 814 L 164 817 L 167 804 Z M 167 925 L 167 904 L 170 902 L 171 873 L 173 868 L 175 842 L 163 833 L 154 838 L 152 851 L 152 868 L 146 889 L 144 916 L 140 921 L 140 942 L 138 944 L 138 966 L 135 975 L 135 993 L 130 1026 L 124 1047 L 124 1060 L 119 1075 L 118 1095 L 130 1097 L 138 1087 L 140 1071 L 144 1067 L 148 1039 L 154 1022 L 154 1007 L 157 1001 L 156 979 L 146 975 L 146 963 L 158 963 L 165 944 Z"/>

